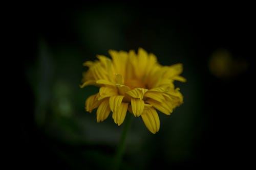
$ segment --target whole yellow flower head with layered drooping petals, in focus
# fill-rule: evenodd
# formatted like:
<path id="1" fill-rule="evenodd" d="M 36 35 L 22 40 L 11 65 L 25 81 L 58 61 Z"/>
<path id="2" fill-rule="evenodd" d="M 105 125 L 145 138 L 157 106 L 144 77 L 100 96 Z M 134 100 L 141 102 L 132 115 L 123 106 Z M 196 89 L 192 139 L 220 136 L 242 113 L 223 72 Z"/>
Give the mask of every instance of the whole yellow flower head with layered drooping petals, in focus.
<path id="1" fill-rule="evenodd" d="M 98 60 L 84 62 L 89 67 L 83 73 L 83 88 L 87 85 L 99 86 L 99 92 L 86 100 L 86 111 L 97 109 L 97 122 L 105 120 L 112 111 L 114 122 L 120 126 L 127 111 L 142 120 L 152 133 L 160 128 L 156 110 L 170 115 L 173 109 L 183 103 L 179 88 L 174 81 L 185 82 L 179 76 L 182 64 L 162 66 L 154 54 L 147 54 L 139 48 L 138 54 L 131 50 L 110 50 L 108 57 L 98 55 Z"/>

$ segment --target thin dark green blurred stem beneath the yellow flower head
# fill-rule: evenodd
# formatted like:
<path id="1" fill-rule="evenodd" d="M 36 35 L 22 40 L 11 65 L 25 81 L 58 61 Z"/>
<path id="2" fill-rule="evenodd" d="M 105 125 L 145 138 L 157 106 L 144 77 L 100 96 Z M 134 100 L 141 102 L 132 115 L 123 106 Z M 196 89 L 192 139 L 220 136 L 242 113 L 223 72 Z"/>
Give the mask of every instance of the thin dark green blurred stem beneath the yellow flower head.
<path id="1" fill-rule="evenodd" d="M 122 157 L 124 154 L 124 150 L 125 150 L 125 139 L 127 137 L 128 131 L 130 129 L 130 125 L 131 125 L 131 120 L 132 120 L 133 115 L 129 112 L 127 112 L 126 118 L 125 118 L 125 122 L 124 122 L 124 127 L 122 129 L 122 134 L 121 134 L 121 138 L 119 140 L 118 143 L 118 147 L 116 150 L 116 154 L 114 157 L 114 162 L 113 162 L 113 169 L 117 170 L 120 168 L 120 165 L 122 163 Z"/>

